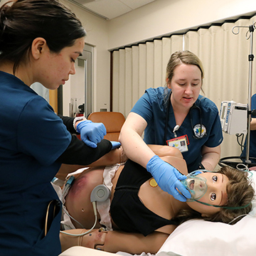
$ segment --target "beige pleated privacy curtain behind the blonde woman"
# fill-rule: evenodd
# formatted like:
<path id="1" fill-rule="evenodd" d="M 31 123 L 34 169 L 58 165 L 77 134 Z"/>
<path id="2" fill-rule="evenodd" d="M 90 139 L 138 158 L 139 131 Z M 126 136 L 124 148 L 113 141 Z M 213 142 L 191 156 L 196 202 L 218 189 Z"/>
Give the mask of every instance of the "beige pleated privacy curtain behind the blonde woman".
<path id="1" fill-rule="evenodd" d="M 133 105 L 149 87 L 165 86 L 166 65 L 176 50 L 191 50 L 203 63 L 205 78 L 202 95 L 213 100 L 220 110 L 224 100 L 248 102 L 248 75 L 250 40 L 248 28 L 256 21 L 240 18 L 198 28 L 183 35 L 171 35 L 136 46 L 124 47 L 112 52 L 112 111 L 125 117 Z M 234 30 L 235 35 L 232 31 Z M 255 31 L 256 33 L 256 31 Z M 254 33 L 253 33 L 254 34 Z M 256 38 L 254 36 L 254 38 Z M 255 40 L 254 40 L 255 42 Z M 256 55 L 256 42 L 253 46 Z M 255 62 L 255 61 L 254 61 Z M 252 62 L 252 95 L 256 93 L 256 63 Z M 223 133 L 221 157 L 239 156 L 240 146 L 235 135 Z"/>

